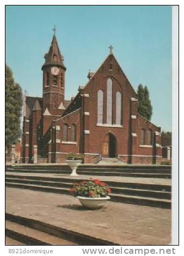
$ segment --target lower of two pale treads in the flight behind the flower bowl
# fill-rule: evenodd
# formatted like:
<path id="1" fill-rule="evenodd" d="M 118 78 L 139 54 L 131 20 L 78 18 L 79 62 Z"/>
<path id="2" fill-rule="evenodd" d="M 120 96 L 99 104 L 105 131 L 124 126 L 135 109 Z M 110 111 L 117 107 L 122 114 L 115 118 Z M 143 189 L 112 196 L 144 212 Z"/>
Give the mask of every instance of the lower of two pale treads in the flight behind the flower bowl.
<path id="1" fill-rule="evenodd" d="M 59 190 L 65 190 L 68 191 L 66 188 L 58 188 L 58 187 L 49 187 L 49 186 L 42 186 L 42 185 L 32 185 L 32 184 L 20 184 L 20 183 L 8 183 L 8 184 L 16 184 L 16 185 L 24 185 L 26 187 L 40 187 L 40 188 L 51 188 L 51 189 L 59 189 Z M 134 199 L 144 199 L 144 200 L 151 200 L 151 201 L 164 201 L 164 202 L 170 202 L 169 199 L 158 199 L 156 197 L 145 197 L 145 196 L 134 196 L 134 195 L 121 195 L 121 194 L 115 194 L 111 193 L 110 196 L 119 196 L 119 197 L 126 197 L 126 198 L 134 198 Z"/>

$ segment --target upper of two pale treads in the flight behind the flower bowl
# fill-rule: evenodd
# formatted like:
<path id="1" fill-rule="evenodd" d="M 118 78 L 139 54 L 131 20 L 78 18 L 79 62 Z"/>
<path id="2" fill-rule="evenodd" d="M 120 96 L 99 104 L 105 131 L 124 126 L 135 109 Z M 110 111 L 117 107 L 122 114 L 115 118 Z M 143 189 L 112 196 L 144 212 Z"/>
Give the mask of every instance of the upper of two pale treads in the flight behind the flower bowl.
<path id="1" fill-rule="evenodd" d="M 28 181 L 28 182 L 37 181 L 37 182 L 42 182 L 42 183 L 45 183 L 45 184 L 47 184 L 47 183 L 59 183 L 59 184 L 72 185 L 72 182 L 70 182 L 70 183 L 68 182 L 67 183 L 67 182 L 55 182 L 55 181 L 40 181 L 40 180 L 37 180 L 37 179 L 19 179 L 19 178 L 6 178 L 6 179 L 16 179 L 16 180 L 18 179 L 20 181 Z M 18 183 L 18 184 L 22 184 L 22 183 Z M 33 185 L 35 185 L 35 184 L 33 184 Z M 48 187 L 50 187 L 50 186 L 48 186 Z M 109 187 L 111 189 L 119 189 L 119 190 L 132 190 L 132 191 L 145 191 L 145 192 L 156 192 L 156 193 L 169 193 L 169 194 L 171 194 L 170 191 L 162 191 L 162 190 L 152 190 L 152 189 L 148 190 L 148 189 L 138 189 L 138 188 L 113 187 L 111 185 L 109 185 Z M 60 188 L 60 187 L 58 187 L 58 188 Z"/>

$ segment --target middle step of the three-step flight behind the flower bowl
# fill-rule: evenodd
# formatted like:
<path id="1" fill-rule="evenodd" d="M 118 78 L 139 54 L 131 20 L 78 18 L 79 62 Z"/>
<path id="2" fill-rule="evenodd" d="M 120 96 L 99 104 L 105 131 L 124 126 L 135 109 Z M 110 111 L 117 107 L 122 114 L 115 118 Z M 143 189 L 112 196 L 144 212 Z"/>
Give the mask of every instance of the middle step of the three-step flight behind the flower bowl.
<path id="1" fill-rule="evenodd" d="M 6 178 L 5 181 L 7 183 L 19 183 L 19 184 L 35 184 L 42 185 L 46 187 L 58 187 L 58 188 L 71 188 L 72 182 L 56 182 L 52 181 L 40 181 L 33 179 L 20 179 L 20 178 Z M 155 190 L 145 190 L 145 189 L 134 189 L 134 188 L 121 188 L 121 187 L 112 187 L 110 185 L 112 193 L 115 194 L 125 194 L 125 195 L 137 195 L 137 196 L 145 196 L 145 197 L 155 197 L 160 199 L 171 199 L 171 193 L 167 191 L 155 191 Z"/>

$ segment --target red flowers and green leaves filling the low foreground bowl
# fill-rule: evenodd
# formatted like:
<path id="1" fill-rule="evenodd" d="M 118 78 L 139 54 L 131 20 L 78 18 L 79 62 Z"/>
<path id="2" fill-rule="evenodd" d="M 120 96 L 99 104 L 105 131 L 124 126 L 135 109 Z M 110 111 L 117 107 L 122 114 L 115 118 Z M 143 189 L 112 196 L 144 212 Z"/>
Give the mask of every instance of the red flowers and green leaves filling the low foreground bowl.
<path id="1" fill-rule="evenodd" d="M 84 197 L 106 197 L 108 193 L 111 193 L 111 189 L 104 182 L 100 182 L 99 179 L 92 179 L 91 181 L 82 181 L 80 183 L 74 183 L 70 193 L 74 196 Z"/>

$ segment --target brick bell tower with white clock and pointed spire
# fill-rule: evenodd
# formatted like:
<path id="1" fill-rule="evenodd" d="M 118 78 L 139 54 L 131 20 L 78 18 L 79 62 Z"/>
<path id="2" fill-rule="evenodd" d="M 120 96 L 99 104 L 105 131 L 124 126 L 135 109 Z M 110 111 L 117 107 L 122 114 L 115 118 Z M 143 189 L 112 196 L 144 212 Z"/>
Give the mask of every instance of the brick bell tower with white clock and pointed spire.
<path id="1" fill-rule="evenodd" d="M 56 28 L 48 53 L 45 54 L 43 71 L 43 113 L 46 115 L 62 115 L 64 111 L 65 71 L 64 58 L 60 53 L 56 39 Z"/>

